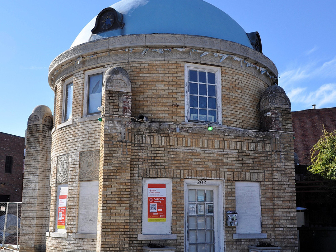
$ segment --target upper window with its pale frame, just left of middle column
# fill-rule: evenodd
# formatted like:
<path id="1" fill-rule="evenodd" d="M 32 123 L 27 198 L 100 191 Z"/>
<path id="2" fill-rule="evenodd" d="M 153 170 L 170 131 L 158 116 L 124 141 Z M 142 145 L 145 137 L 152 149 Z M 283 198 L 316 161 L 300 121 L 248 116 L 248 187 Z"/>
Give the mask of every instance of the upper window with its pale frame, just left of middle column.
<path id="1" fill-rule="evenodd" d="M 84 100 L 84 116 L 100 113 L 98 107 L 101 106 L 101 94 L 103 83 L 102 69 L 95 69 L 85 73 L 85 100 Z"/>

